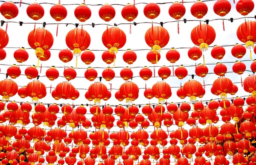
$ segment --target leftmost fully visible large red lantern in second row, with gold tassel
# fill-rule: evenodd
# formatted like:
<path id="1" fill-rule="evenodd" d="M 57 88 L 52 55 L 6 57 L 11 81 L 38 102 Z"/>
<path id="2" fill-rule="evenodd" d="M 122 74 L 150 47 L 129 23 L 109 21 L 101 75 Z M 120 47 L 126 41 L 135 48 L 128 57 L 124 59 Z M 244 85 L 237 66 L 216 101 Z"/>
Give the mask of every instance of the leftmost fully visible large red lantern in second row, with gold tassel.
<path id="1" fill-rule="evenodd" d="M 35 49 L 35 54 L 38 59 L 44 59 L 44 51 L 49 50 L 53 44 L 51 32 L 44 28 L 36 28 L 29 33 L 29 46 Z"/>

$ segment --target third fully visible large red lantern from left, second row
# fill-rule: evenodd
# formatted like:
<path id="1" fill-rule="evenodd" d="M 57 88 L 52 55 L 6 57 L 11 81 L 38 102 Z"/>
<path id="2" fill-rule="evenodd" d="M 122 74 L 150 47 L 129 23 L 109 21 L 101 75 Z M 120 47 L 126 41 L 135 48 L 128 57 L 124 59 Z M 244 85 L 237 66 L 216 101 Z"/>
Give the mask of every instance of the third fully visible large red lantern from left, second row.
<path id="1" fill-rule="evenodd" d="M 117 53 L 126 43 L 125 32 L 118 27 L 108 28 L 102 34 L 102 43 L 106 48 L 110 49 L 110 53 Z"/>

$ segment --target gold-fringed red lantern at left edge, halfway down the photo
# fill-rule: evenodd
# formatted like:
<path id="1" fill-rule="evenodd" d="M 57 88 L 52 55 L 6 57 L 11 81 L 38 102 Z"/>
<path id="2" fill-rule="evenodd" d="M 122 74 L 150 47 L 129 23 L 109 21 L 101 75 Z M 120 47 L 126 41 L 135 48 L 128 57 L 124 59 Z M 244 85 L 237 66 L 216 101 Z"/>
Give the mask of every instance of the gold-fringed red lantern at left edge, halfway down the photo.
<path id="1" fill-rule="evenodd" d="M 5 79 L 0 81 L 0 95 L 3 101 L 9 101 L 9 98 L 17 94 L 18 86 L 13 80 Z"/>

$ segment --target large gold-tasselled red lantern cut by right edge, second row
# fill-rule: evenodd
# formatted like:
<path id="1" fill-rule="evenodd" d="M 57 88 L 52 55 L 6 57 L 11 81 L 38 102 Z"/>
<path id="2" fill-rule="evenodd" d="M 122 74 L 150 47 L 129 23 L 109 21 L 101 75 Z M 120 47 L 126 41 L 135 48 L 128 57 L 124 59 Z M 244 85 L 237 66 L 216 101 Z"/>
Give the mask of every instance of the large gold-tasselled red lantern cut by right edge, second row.
<path id="1" fill-rule="evenodd" d="M 250 49 L 250 59 L 252 60 L 251 49 L 254 48 L 254 43 L 256 42 L 256 22 L 248 21 L 242 23 L 236 31 L 237 38 L 245 43 L 245 47 Z"/>

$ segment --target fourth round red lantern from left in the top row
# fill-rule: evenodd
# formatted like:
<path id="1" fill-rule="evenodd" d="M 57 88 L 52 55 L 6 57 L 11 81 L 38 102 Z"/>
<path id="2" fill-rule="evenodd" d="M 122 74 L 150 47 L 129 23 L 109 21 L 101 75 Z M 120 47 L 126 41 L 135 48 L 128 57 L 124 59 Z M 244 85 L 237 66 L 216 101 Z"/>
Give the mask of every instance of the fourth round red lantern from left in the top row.
<path id="1" fill-rule="evenodd" d="M 75 17 L 80 22 L 85 22 L 88 20 L 91 16 L 92 12 L 90 8 L 88 8 L 84 3 L 82 3 L 80 6 L 77 6 L 75 9 Z"/>

